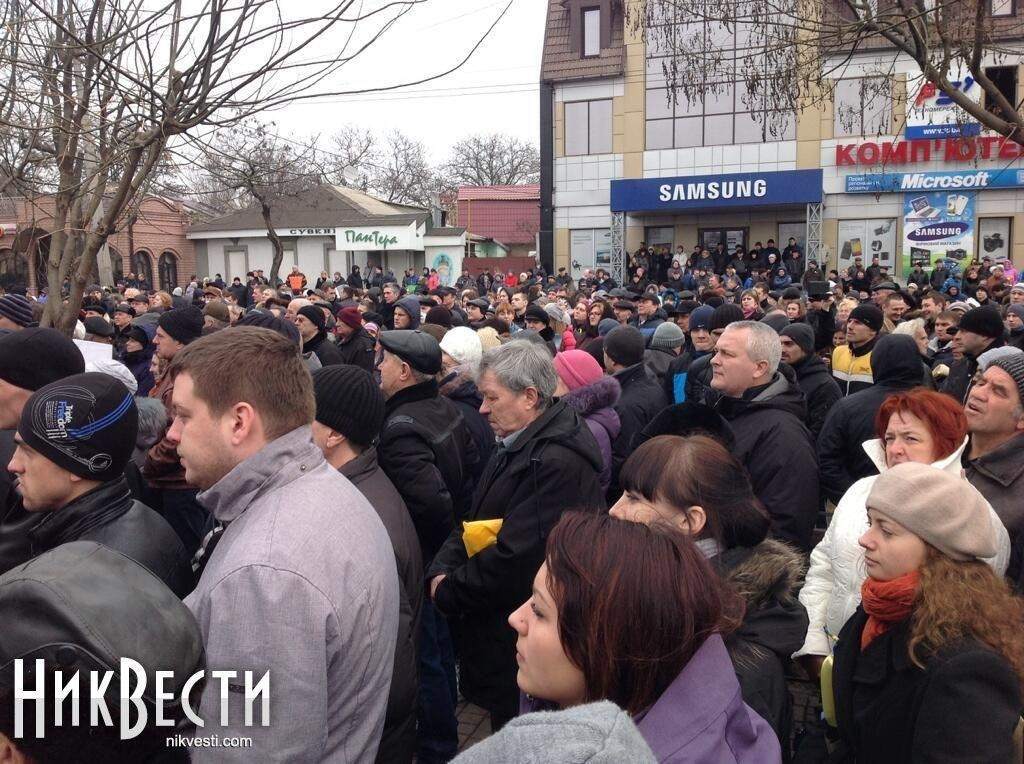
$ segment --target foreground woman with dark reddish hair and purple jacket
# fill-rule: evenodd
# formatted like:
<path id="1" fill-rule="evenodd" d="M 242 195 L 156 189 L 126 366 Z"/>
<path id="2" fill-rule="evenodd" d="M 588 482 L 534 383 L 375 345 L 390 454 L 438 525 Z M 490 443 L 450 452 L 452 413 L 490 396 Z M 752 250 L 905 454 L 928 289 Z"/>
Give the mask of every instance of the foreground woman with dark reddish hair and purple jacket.
<path id="1" fill-rule="evenodd" d="M 722 640 L 735 608 L 676 526 L 567 512 L 532 596 L 509 617 L 523 711 L 607 699 L 659 762 L 778 762 Z"/>

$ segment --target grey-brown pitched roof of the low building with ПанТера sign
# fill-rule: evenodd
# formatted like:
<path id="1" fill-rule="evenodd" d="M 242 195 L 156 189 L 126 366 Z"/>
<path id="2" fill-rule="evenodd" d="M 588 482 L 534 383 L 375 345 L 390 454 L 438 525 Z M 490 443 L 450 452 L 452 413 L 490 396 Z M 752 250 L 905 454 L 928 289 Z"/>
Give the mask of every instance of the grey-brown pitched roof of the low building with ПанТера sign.
<path id="1" fill-rule="evenodd" d="M 393 204 L 342 185 L 321 185 L 300 197 L 282 200 L 273 210 L 279 228 L 338 227 L 343 225 L 408 225 L 427 218 L 420 207 Z M 197 223 L 189 234 L 263 228 L 259 207 L 250 207 L 214 220 Z"/>

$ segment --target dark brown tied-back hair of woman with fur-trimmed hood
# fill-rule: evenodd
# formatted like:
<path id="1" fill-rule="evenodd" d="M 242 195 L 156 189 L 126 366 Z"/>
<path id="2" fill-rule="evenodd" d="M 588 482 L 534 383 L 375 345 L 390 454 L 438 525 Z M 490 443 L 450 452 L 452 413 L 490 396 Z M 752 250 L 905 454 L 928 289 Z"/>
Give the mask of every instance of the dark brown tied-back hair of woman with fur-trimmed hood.
<path id="1" fill-rule="evenodd" d="M 698 538 L 725 549 L 757 546 L 768 536 L 768 513 L 743 465 L 707 435 L 652 437 L 626 460 L 618 482 L 624 492 L 665 502 L 683 518 L 687 508 L 701 507 L 708 521 Z"/>

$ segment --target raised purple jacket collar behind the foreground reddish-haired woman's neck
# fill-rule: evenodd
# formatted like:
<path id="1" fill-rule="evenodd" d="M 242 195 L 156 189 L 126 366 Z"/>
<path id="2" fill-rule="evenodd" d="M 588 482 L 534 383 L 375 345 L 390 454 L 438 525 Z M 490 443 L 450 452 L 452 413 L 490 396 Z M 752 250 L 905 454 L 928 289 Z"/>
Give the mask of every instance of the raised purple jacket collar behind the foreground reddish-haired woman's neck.
<path id="1" fill-rule="evenodd" d="M 697 698 L 699 703 L 694 703 Z M 647 740 L 671 739 L 682 748 L 738 698 L 739 683 L 725 642 L 712 634 L 654 705 L 638 717 L 637 726 Z"/>

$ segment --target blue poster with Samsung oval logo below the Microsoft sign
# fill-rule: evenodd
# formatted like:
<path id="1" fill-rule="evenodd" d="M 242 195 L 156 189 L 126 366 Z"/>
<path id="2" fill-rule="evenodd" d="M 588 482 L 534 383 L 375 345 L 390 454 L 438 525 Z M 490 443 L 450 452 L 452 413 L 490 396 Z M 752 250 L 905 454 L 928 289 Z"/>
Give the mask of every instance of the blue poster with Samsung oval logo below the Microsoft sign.
<path id="1" fill-rule="evenodd" d="M 941 259 L 966 267 L 974 256 L 975 192 L 906 194 L 903 197 L 903 272 Z"/>

